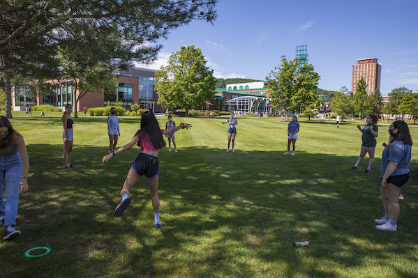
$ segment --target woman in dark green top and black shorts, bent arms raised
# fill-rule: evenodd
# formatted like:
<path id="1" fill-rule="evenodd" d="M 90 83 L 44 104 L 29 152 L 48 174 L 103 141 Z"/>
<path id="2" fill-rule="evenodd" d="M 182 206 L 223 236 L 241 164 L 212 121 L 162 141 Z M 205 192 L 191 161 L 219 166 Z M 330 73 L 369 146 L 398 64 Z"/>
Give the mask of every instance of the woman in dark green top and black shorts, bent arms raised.
<path id="1" fill-rule="evenodd" d="M 368 167 L 365 172 L 370 173 L 371 167 L 375 163 L 375 137 L 378 137 L 378 125 L 376 125 L 376 123 L 378 123 L 378 116 L 368 115 L 366 117 L 366 126 L 363 129 L 361 129 L 360 125 L 357 125 L 357 128 L 361 131 L 361 133 L 363 133 L 361 135 L 361 141 L 363 142 L 363 144 L 361 144 L 359 159 L 357 160 L 356 164 L 350 169 L 359 169 L 360 163 L 363 161 L 366 153 L 368 153 L 368 155 L 370 156 L 370 160 L 368 162 Z"/>

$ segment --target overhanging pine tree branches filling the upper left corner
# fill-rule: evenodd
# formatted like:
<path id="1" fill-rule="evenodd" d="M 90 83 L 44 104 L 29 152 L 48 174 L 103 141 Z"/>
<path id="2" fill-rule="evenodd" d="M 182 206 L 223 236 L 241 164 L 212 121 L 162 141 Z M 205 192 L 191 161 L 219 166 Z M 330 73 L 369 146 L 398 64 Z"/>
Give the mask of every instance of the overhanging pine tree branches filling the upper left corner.
<path id="1" fill-rule="evenodd" d="M 11 117 L 10 90 L 15 75 L 21 72 L 36 79 L 46 77 L 58 47 L 83 46 L 84 38 L 98 38 L 97 43 L 83 49 L 87 57 L 99 54 L 103 41 L 109 37 L 119 41 L 107 52 L 119 69 L 132 61 L 150 63 L 156 59 L 171 30 L 191 20 L 213 22 L 217 0 L 50 0 L 0 1 L 0 75 L 6 91 L 6 116 Z M 13 63 L 17 61 L 18 63 Z M 102 61 L 103 62 L 103 61 Z M 26 63 L 24 70 L 20 64 Z M 105 63 L 103 63 L 105 64 Z"/>

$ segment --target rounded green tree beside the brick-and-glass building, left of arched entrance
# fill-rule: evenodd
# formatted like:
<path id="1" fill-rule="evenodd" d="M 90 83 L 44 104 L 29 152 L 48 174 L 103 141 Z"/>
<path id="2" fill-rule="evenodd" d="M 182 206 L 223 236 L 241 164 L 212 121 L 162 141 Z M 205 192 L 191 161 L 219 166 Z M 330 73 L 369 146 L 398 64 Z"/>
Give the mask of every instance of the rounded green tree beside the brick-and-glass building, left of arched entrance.
<path id="1" fill-rule="evenodd" d="M 181 107 L 187 115 L 189 109 L 199 109 L 213 98 L 216 78 L 206 63 L 201 50 L 193 45 L 172 54 L 168 65 L 156 71 L 158 104 L 167 109 Z"/>

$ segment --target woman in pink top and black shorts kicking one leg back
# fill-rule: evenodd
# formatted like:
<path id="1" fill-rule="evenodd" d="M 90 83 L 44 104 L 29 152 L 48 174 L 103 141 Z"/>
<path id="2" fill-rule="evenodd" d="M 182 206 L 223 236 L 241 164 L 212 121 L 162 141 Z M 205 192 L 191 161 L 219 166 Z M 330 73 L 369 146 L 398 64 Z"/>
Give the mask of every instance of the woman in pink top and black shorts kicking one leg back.
<path id="1" fill-rule="evenodd" d="M 135 144 L 141 148 L 140 154 L 133 160 L 128 176 L 126 176 L 124 187 L 121 190 L 122 201 L 114 210 L 114 216 L 119 217 L 124 213 L 130 203 L 130 190 L 132 190 L 140 176 L 144 175 L 148 178 L 149 194 L 151 195 L 152 208 L 154 210 L 154 226 L 161 226 L 160 199 L 158 198 L 158 173 L 160 173 L 158 167 L 158 151 L 165 146 L 163 134 L 170 134 L 181 128 L 189 129 L 191 125 L 181 123 L 170 130 L 161 130 L 154 114 L 151 111 L 146 111 L 142 114 L 141 129 L 135 133 L 132 141 L 103 157 L 102 162 L 106 163 L 110 157 L 129 150 Z"/>

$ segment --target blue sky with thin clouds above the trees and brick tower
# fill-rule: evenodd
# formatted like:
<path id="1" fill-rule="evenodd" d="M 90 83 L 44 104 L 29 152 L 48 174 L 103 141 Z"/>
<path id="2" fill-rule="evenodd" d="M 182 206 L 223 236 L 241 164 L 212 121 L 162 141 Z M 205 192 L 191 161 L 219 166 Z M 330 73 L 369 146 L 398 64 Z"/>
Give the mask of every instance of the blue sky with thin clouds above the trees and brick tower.
<path id="1" fill-rule="evenodd" d="M 214 25 L 195 21 L 161 40 L 149 68 L 195 45 L 215 77 L 264 80 L 281 56 L 294 59 L 296 46 L 308 45 L 320 88 L 351 90 L 352 65 L 370 56 L 382 63 L 382 95 L 401 86 L 418 91 L 418 0 L 221 0 L 216 10 Z"/>

